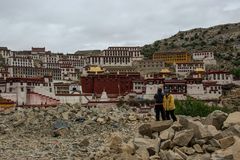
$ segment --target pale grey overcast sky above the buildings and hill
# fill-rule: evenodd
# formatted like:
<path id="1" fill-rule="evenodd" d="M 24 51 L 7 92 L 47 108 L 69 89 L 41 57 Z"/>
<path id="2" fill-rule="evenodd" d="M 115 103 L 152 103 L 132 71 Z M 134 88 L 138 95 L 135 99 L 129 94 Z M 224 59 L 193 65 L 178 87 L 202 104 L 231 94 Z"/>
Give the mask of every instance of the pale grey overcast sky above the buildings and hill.
<path id="1" fill-rule="evenodd" d="M 236 22 L 240 0 L 0 0 L 0 46 L 66 53 Z"/>

